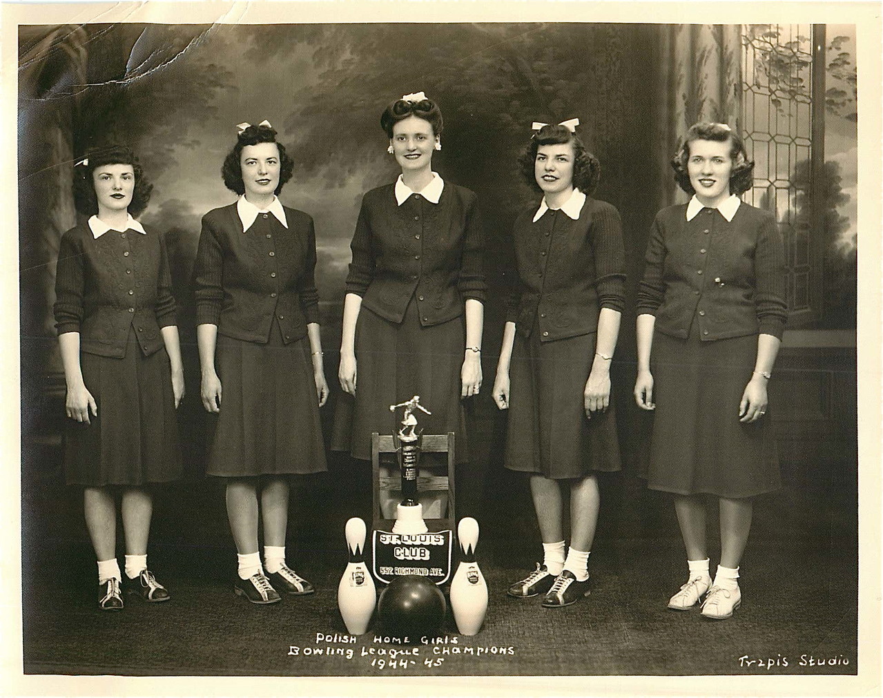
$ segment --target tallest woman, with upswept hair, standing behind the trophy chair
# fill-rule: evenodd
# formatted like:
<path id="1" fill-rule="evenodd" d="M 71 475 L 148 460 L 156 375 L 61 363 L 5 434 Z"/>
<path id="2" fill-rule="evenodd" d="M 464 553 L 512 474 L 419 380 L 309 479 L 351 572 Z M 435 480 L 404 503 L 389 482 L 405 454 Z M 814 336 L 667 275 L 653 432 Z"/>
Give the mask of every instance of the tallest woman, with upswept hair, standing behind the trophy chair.
<path id="1" fill-rule="evenodd" d="M 421 417 L 424 433 L 454 432 L 457 461 L 464 462 L 461 401 L 481 386 L 486 285 L 478 200 L 432 170 L 442 149 L 442 112 L 422 92 L 391 102 L 381 128 L 402 173 L 366 193 L 358 214 L 338 372 L 346 395 L 332 447 L 369 459 L 372 432 L 398 429 L 389 406 L 419 395 L 432 413 Z M 391 477 L 394 468 L 382 471 Z M 397 502 L 381 503 L 389 518 Z M 426 518 L 442 516 L 442 507 L 434 497 Z"/>

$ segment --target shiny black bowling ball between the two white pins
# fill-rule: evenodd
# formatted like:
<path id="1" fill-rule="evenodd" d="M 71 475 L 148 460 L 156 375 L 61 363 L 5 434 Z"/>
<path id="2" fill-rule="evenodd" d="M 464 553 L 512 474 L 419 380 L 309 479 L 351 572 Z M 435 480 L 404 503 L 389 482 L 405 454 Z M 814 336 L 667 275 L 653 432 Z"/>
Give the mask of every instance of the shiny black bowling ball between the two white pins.
<path id="1" fill-rule="evenodd" d="M 442 633 L 448 604 L 432 581 L 417 574 L 406 574 L 389 582 L 381 592 L 377 614 L 384 633 L 419 641 Z"/>

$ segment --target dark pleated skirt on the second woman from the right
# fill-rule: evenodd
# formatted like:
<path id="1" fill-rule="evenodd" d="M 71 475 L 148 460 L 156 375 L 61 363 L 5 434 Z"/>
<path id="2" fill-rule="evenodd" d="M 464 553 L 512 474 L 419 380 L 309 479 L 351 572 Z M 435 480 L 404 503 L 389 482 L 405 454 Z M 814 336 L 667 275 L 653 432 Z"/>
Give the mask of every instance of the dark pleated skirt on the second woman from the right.
<path id="1" fill-rule="evenodd" d="M 506 467 L 554 480 L 619 470 L 612 393 L 607 412 L 585 416 L 596 333 L 554 342 L 539 336 L 534 327 L 512 347 Z"/>

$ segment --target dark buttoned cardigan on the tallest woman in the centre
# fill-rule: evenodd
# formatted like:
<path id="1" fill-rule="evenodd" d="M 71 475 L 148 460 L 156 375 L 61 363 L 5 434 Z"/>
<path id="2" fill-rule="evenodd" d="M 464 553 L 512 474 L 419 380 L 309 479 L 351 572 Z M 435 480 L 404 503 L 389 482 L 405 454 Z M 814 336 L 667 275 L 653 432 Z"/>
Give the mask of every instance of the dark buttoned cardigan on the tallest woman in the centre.
<path id="1" fill-rule="evenodd" d="M 485 300 L 484 244 L 469 189 L 445 182 L 438 203 L 411 194 L 397 206 L 395 185 L 380 186 L 362 199 L 346 292 L 389 322 L 402 322 L 416 293 L 423 326 L 447 322 L 465 300 Z"/>

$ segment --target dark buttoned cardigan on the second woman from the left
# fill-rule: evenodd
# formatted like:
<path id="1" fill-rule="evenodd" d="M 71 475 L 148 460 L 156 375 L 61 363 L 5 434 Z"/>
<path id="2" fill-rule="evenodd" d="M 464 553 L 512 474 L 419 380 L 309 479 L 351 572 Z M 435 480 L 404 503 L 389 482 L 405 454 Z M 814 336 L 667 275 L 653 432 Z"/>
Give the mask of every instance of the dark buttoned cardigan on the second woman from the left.
<path id="1" fill-rule="evenodd" d="M 275 315 L 290 344 L 306 336 L 307 323 L 319 322 L 313 218 L 287 206 L 283 210 L 288 228 L 264 213 L 245 232 L 235 203 L 202 216 L 193 267 L 197 324 L 266 344 Z"/>

